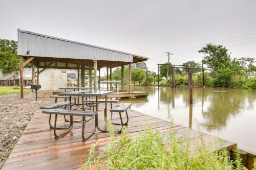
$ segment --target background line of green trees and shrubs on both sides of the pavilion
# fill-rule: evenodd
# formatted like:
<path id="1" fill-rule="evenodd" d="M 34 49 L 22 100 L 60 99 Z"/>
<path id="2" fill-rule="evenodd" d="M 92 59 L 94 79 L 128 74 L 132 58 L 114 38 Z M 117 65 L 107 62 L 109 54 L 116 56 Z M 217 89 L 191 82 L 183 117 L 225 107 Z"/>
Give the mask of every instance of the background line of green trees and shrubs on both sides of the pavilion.
<path id="1" fill-rule="evenodd" d="M 203 54 L 202 63 L 207 66 L 205 72 L 205 84 L 211 87 L 231 87 L 231 88 L 252 88 L 256 89 L 255 58 L 231 58 L 231 53 L 223 45 L 206 44 L 198 53 Z M 201 62 L 187 61 L 183 63 L 184 67 L 190 67 L 193 73 L 195 84 L 202 82 Z M 171 64 L 165 63 L 165 64 Z M 19 66 L 19 57 L 17 56 L 17 41 L 0 39 L 0 69 L 4 74 L 17 71 Z M 27 65 L 30 67 L 31 65 Z M 132 64 L 132 81 L 134 85 L 145 85 L 146 74 L 147 84 L 154 85 L 158 81 L 158 75 L 154 71 L 147 71 L 145 62 Z M 167 71 L 168 70 L 168 71 Z M 187 85 L 188 69 L 175 68 L 176 85 Z M 168 75 L 167 75 L 168 72 Z M 199 74 L 198 74 L 199 73 Z M 128 83 L 128 66 L 124 67 L 124 82 Z M 159 81 L 162 85 L 171 84 L 172 66 L 161 65 Z M 105 80 L 106 77 L 101 77 Z M 113 80 L 121 80 L 121 69 L 116 68 L 112 73 Z"/>

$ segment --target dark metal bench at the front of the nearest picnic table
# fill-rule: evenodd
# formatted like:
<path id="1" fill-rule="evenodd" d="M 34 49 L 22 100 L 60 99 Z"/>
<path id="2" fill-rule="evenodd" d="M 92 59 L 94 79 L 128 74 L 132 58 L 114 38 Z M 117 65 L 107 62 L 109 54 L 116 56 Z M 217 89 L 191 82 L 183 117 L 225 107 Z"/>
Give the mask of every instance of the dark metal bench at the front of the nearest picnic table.
<path id="1" fill-rule="evenodd" d="M 82 141 L 86 141 L 88 138 L 90 138 L 96 131 L 96 126 L 98 124 L 97 118 L 95 118 L 95 127 L 94 130 L 91 134 L 89 134 L 87 137 L 84 137 L 84 129 L 85 129 L 85 117 L 92 117 L 94 118 L 95 116 L 98 116 L 98 112 L 95 111 L 91 111 L 91 110 L 65 110 L 65 109 L 49 109 L 49 110 L 44 110 L 42 111 L 42 113 L 45 114 L 55 114 L 55 120 L 54 120 L 54 137 L 55 139 L 66 135 L 67 133 L 69 133 L 72 128 L 73 128 L 73 116 L 82 116 Z M 70 126 L 68 128 L 68 131 L 62 132 L 59 135 L 57 135 L 56 133 L 56 129 L 60 129 L 56 127 L 57 124 L 57 115 L 69 115 L 70 116 Z M 63 129 L 63 128 L 62 128 Z"/>

